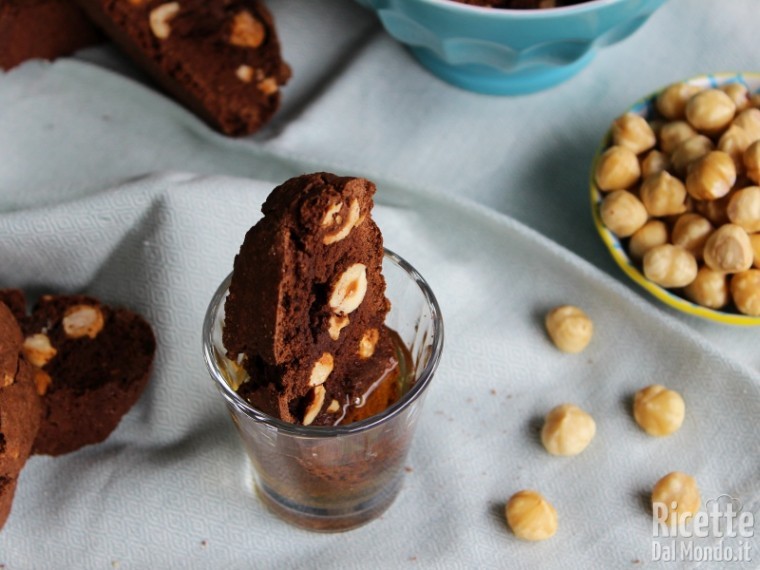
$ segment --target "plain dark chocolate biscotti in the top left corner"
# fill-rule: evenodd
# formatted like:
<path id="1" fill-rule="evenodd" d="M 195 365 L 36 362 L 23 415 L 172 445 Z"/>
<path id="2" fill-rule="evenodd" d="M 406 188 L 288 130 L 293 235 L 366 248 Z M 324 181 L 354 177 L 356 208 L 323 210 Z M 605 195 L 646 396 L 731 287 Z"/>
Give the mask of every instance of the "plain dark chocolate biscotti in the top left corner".
<path id="1" fill-rule="evenodd" d="M 27 59 L 55 59 L 102 41 L 72 0 L 2 0 L 0 68 Z"/>

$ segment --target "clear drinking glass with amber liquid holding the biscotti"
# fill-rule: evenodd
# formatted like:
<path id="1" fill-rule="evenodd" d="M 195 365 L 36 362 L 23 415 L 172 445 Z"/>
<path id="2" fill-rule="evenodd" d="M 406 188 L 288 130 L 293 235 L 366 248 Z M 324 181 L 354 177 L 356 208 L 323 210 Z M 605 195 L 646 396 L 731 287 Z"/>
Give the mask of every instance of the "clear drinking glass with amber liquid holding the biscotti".
<path id="1" fill-rule="evenodd" d="M 234 367 L 228 366 L 222 344 L 231 276 L 219 286 L 206 313 L 206 366 L 243 439 L 258 495 L 281 518 L 310 530 L 349 530 L 391 505 L 401 489 L 425 391 L 441 357 L 443 320 L 428 284 L 388 250 L 383 274 L 392 305 L 386 325 L 408 349 L 409 362 L 401 363 L 406 389 L 384 411 L 351 424 L 295 425 L 251 406 L 233 389 Z"/>

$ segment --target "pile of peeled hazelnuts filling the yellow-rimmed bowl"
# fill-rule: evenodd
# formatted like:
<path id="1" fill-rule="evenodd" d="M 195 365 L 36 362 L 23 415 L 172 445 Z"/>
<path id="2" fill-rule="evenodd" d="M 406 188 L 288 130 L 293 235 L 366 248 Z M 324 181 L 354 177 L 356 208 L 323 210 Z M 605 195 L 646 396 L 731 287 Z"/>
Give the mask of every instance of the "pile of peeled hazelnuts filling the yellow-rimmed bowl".
<path id="1" fill-rule="evenodd" d="M 650 281 L 760 316 L 760 94 L 676 83 L 655 108 L 612 123 L 594 171 L 602 222 Z"/>

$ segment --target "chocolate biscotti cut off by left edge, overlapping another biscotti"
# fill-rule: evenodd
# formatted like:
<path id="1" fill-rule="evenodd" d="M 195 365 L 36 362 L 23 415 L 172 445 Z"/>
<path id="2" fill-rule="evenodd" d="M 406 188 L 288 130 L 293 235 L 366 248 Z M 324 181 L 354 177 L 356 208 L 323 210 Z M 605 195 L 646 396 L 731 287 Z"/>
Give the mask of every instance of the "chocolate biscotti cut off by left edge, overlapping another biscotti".
<path id="1" fill-rule="evenodd" d="M 0 528 L 10 514 L 42 413 L 33 368 L 19 353 L 22 339 L 16 318 L 0 302 Z"/>

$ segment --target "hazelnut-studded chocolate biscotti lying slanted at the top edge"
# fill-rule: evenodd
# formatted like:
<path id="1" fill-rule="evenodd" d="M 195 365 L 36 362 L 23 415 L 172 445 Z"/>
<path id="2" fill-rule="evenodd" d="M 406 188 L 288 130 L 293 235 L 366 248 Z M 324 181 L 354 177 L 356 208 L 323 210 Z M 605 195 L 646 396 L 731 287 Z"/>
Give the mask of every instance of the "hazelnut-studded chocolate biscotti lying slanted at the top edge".
<path id="1" fill-rule="evenodd" d="M 166 91 L 223 133 L 252 133 L 277 110 L 290 68 L 260 0 L 76 1 Z"/>

